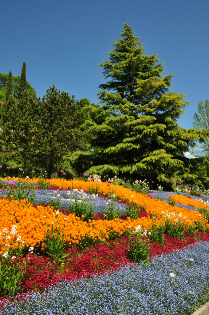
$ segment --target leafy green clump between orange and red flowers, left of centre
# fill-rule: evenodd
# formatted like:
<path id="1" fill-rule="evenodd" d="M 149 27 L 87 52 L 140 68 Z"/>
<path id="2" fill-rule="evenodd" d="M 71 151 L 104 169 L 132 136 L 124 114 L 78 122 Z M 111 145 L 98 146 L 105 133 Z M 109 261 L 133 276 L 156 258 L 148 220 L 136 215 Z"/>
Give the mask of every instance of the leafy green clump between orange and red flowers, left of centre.
<path id="1" fill-rule="evenodd" d="M 53 229 L 53 224 L 51 231 L 48 229 L 46 234 L 46 239 L 44 243 L 46 244 L 45 252 L 50 255 L 52 261 L 57 263 L 63 262 L 63 258 L 67 257 L 69 254 L 64 254 L 65 252 L 65 233 L 60 236 L 60 231 L 56 227 Z"/>

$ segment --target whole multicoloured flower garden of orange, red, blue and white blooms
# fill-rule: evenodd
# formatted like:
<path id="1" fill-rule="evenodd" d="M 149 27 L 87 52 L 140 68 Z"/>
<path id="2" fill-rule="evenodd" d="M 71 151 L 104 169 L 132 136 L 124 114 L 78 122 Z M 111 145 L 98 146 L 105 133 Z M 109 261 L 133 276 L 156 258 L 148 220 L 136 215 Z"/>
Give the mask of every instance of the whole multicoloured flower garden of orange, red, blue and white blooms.
<path id="1" fill-rule="evenodd" d="M 0 315 L 189 315 L 209 299 L 206 195 L 107 181 L 0 185 Z"/>

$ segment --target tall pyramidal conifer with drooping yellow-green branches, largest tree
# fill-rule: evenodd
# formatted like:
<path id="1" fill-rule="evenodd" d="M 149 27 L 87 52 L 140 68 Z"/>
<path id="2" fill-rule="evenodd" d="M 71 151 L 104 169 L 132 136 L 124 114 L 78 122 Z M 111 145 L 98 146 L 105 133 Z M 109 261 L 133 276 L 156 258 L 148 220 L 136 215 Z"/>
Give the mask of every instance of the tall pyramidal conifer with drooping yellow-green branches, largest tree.
<path id="1" fill-rule="evenodd" d="M 182 129 L 177 119 L 188 104 L 185 95 L 169 93 L 172 75 L 162 76 L 164 66 L 156 54 L 144 55 L 133 28 L 124 23 L 120 38 L 100 64 L 108 79 L 98 92 L 105 121 L 91 127 L 95 150 L 89 172 L 129 175 L 169 182 L 195 180 L 184 152 L 201 134 Z M 144 178 L 144 177 L 143 177 Z"/>

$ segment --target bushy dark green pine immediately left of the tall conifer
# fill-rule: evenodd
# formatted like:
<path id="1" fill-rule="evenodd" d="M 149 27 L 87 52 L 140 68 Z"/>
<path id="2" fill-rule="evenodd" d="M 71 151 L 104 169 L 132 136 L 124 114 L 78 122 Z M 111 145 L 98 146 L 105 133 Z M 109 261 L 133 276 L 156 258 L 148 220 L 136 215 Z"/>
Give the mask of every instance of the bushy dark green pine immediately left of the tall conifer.
<path id="1" fill-rule="evenodd" d="M 74 95 L 70 97 L 66 92 L 60 93 L 54 85 L 38 104 L 38 150 L 42 153 L 43 166 L 50 173 L 59 168 L 66 153 L 85 150 L 85 135 L 80 129 L 84 118 Z"/>

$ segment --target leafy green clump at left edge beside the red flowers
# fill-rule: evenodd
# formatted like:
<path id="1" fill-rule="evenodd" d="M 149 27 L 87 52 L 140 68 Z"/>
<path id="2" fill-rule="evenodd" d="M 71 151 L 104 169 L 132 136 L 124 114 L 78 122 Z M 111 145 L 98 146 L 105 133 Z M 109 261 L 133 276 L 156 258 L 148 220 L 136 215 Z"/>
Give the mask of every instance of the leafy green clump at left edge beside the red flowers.
<path id="1" fill-rule="evenodd" d="M 16 295 L 26 271 L 26 260 L 20 261 L 5 252 L 0 258 L 0 295 Z"/>

